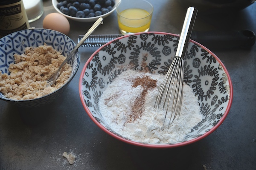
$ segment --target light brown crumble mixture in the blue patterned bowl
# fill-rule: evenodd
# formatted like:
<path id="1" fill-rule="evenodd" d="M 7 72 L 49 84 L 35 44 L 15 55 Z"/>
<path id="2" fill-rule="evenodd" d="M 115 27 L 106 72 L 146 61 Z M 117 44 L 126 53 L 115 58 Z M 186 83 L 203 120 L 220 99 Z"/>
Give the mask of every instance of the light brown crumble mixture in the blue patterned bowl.
<path id="1" fill-rule="evenodd" d="M 66 63 L 55 84 L 47 86 L 46 80 L 65 58 L 45 43 L 35 48 L 27 47 L 23 54 L 14 54 L 15 63 L 9 65 L 9 75 L 0 71 L 0 92 L 15 100 L 35 99 L 52 93 L 70 78 L 72 67 Z"/>

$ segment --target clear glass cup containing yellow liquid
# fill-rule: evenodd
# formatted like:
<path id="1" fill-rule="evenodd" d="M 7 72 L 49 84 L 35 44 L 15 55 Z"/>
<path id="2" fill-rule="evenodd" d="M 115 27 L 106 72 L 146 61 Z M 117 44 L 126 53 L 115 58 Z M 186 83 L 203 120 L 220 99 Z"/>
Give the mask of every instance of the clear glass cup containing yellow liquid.
<path id="1" fill-rule="evenodd" d="M 117 21 L 122 34 L 147 32 L 153 6 L 145 0 L 121 0 L 116 6 Z"/>

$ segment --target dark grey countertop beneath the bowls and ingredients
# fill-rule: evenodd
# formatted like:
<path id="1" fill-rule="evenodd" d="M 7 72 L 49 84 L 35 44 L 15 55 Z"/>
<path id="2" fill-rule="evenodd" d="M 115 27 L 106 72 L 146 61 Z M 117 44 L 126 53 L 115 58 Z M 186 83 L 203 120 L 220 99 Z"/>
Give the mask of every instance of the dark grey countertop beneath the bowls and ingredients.
<path id="1" fill-rule="evenodd" d="M 154 6 L 150 31 L 180 34 L 186 8 L 175 0 L 148 0 Z M 43 16 L 30 23 L 42 28 L 55 12 L 44 0 Z M 195 31 L 256 32 L 256 3 L 235 13 L 204 16 Z M 78 41 L 93 23 L 70 20 L 69 37 Z M 116 12 L 93 34 L 120 34 Z M 206 138 L 182 147 L 148 149 L 109 136 L 87 116 L 79 97 L 81 70 L 96 47 L 79 48 L 79 70 L 64 94 L 42 108 L 17 108 L 0 101 L 0 170 L 253 170 L 256 168 L 256 45 L 250 49 L 210 49 L 233 82 L 233 105 L 223 124 Z M 73 152 L 73 165 L 62 157 Z"/>

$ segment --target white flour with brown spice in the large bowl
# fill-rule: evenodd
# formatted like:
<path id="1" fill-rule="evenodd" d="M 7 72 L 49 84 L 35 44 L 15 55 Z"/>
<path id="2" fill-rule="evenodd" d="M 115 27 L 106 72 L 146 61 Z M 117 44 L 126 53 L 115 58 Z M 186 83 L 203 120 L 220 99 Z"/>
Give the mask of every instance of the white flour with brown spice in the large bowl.
<path id="1" fill-rule="evenodd" d="M 184 83 L 180 116 L 169 128 L 161 129 L 165 111 L 155 110 L 154 103 L 163 75 L 126 70 L 103 92 L 99 109 L 109 127 L 123 137 L 150 144 L 182 141 L 202 120 L 198 100 L 192 88 Z M 163 103 L 163 102 L 162 102 Z"/>

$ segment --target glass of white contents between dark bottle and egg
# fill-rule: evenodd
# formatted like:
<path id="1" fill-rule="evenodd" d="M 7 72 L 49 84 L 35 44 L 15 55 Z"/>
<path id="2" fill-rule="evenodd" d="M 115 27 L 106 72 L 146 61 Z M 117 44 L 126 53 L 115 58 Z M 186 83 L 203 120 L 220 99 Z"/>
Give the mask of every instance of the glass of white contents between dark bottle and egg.
<path id="1" fill-rule="evenodd" d="M 38 20 L 44 13 L 43 0 L 23 0 L 29 23 Z"/>

